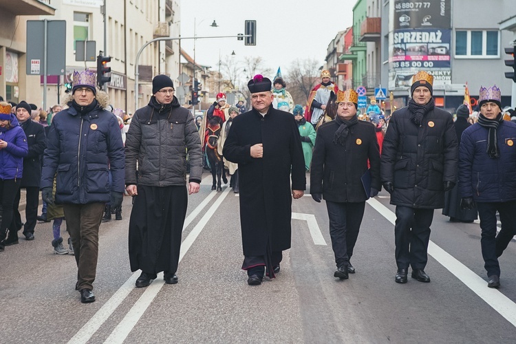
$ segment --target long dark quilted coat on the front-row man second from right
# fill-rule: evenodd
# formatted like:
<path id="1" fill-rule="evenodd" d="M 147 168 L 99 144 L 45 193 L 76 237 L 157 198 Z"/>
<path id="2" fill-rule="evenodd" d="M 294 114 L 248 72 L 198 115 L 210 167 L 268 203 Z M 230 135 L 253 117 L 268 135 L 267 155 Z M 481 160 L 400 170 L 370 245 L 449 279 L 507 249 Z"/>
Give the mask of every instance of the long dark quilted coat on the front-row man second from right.
<path id="1" fill-rule="evenodd" d="M 391 204 L 411 208 L 444 206 L 444 182 L 456 182 L 458 143 L 451 114 L 429 111 L 421 125 L 409 107 L 394 112 L 382 147 L 382 182 L 392 182 Z"/>

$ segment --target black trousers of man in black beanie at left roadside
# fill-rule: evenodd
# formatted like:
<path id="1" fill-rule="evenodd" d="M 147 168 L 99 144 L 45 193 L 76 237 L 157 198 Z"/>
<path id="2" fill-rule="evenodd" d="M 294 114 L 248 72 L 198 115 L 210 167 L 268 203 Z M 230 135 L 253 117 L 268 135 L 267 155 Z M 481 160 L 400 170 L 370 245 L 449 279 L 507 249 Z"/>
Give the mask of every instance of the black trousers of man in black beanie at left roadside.
<path id="1" fill-rule="evenodd" d="M 38 217 L 38 205 L 39 205 L 39 187 L 38 186 L 27 186 L 23 188 L 27 191 L 27 199 L 25 203 L 25 224 L 23 225 L 23 234 L 32 233 L 34 234 L 34 228 L 36 227 Z M 21 229 L 21 215 L 19 212 L 21 199 L 21 191 L 18 189 L 16 196 L 14 197 L 14 205 L 12 209 L 12 222 L 9 228 L 9 237 L 17 235 L 17 231 Z"/>

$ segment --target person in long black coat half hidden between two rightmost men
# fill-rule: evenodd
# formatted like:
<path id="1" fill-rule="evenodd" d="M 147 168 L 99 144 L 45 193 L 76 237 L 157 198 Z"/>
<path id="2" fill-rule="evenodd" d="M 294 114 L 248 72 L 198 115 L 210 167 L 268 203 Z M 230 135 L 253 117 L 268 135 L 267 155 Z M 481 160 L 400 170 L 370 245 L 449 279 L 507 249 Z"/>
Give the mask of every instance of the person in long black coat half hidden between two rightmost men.
<path id="1" fill-rule="evenodd" d="M 460 146 L 460 137 L 462 131 L 466 130 L 471 124 L 468 122 L 469 109 L 462 104 L 457 109 L 457 120 L 455 120 L 455 132 L 457 133 L 457 140 Z M 458 180 L 458 179 L 457 179 Z M 460 208 L 460 194 L 459 186 L 455 185 L 453 189 L 444 193 L 444 208 L 442 208 L 442 215 L 449 216 L 451 222 L 473 222 L 477 219 L 477 207 L 473 209 Z"/>

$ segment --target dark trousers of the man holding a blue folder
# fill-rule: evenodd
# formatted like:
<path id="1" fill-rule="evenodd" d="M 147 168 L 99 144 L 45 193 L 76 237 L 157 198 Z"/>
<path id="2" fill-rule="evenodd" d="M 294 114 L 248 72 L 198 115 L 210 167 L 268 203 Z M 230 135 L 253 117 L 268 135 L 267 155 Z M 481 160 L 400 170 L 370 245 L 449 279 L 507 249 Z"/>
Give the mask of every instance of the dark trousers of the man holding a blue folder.
<path id="1" fill-rule="evenodd" d="M 337 268 L 347 266 L 353 255 L 358 230 L 364 216 L 365 202 L 337 203 L 326 201 L 330 219 L 330 237 Z"/>

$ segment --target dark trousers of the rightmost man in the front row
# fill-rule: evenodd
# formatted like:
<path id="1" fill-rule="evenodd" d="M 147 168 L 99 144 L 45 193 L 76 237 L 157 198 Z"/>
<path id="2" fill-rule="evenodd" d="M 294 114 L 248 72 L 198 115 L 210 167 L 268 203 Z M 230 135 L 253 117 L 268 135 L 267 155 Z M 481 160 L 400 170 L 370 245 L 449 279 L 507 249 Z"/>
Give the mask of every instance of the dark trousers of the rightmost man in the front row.
<path id="1" fill-rule="evenodd" d="M 498 257 L 502 255 L 511 239 L 516 235 L 516 217 L 512 214 L 516 201 L 511 202 L 477 202 L 478 215 L 480 217 L 480 228 L 482 235 L 480 246 L 484 268 L 487 276 L 500 275 Z M 496 211 L 500 215 L 502 229 L 496 234 Z"/>

